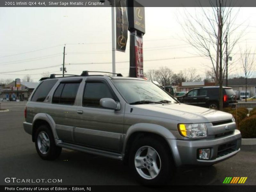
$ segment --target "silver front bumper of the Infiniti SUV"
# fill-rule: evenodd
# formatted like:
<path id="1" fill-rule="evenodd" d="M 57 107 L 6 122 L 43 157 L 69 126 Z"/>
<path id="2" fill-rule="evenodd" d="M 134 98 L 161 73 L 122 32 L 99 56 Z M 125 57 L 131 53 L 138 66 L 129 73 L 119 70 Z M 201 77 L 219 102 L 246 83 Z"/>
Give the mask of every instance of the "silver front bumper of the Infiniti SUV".
<path id="1" fill-rule="evenodd" d="M 168 140 L 176 166 L 212 165 L 224 161 L 240 151 L 241 133 L 235 130 L 233 134 L 214 139 L 200 140 Z M 232 146 L 232 148 L 230 148 Z M 225 149 L 225 147 L 227 149 Z M 210 148 L 209 160 L 198 159 L 198 150 Z"/>

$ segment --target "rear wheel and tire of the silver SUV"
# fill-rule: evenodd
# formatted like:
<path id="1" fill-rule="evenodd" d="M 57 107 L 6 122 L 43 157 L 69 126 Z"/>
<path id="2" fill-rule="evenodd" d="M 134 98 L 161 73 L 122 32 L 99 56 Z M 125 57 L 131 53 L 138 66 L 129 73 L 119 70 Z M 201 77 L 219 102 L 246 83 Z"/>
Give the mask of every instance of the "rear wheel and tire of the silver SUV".
<path id="1" fill-rule="evenodd" d="M 61 147 L 56 146 L 52 130 L 47 125 L 40 125 L 35 133 L 38 155 L 44 160 L 54 160 L 60 156 Z"/>

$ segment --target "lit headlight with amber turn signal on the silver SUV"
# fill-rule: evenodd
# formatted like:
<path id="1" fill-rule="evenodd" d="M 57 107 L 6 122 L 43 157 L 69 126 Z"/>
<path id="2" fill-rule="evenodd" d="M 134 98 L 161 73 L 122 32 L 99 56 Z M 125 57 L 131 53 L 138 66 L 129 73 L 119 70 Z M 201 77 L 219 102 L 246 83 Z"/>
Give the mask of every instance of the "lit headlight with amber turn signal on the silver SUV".
<path id="1" fill-rule="evenodd" d="M 179 124 L 180 134 L 188 138 L 207 137 L 207 128 L 204 123 L 200 124 Z"/>

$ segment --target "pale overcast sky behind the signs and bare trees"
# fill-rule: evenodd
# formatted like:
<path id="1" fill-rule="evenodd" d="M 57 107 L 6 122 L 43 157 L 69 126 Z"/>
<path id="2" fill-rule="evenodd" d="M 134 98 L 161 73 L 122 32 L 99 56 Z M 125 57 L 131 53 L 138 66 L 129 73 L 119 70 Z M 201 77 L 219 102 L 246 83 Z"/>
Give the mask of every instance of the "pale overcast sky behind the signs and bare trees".
<path id="1" fill-rule="evenodd" d="M 191 14 L 195 12 L 195 8 L 187 10 Z M 144 72 L 167 66 L 178 73 L 193 67 L 204 78 L 205 71 L 211 67 L 209 60 L 200 56 L 186 58 L 199 53 L 184 41 L 184 33 L 177 21 L 177 18 L 182 18 L 183 11 L 184 8 L 176 7 L 145 8 Z M 240 9 L 235 23 L 242 26 L 236 33 L 244 28 L 246 33 L 232 52 L 230 75 L 242 75 L 241 65 L 237 61 L 240 56 L 239 47 L 243 48 L 247 44 L 253 51 L 255 49 L 255 18 L 255 7 Z M 112 71 L 110 7 L 1 7 L 0 26 L 0 79 L 22 79 L 29 74 L 36 82 L 42 73 L 61 73 L 64 44 L 68 74 L 81 74 L 83 70 Z M 116 72 L 124 76 L 129 73 L 129 40 L 125 53 L 116 52 Z M 105 63 L 97 64 L 102 62 Z M 87 64 L 75 65 L 77 63 Z M 49 66 L 51 68 L 47 68 Z M 33 68 L 41 69 L 28 70 Z M 22 71 L 25 69 L 27 71 Z M 1 74 L 3 72 L 8 73 Z"/>

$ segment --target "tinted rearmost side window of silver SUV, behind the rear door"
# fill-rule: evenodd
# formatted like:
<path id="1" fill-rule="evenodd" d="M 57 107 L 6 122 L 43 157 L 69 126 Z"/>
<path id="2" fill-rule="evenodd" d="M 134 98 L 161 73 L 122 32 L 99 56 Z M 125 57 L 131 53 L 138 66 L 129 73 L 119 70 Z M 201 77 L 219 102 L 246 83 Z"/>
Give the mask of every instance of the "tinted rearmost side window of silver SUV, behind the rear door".
<path id="1" fill-rule="evenodd" d="M 48 93 L 51 91 L 53 85 L 57 82 L 57 79 L 53 80 L 46 80 L 43 81 L 37 88 L 35 93 L 33 94 L 31 101 L 38 101 L 43 102 L 48 95 Z"/>

